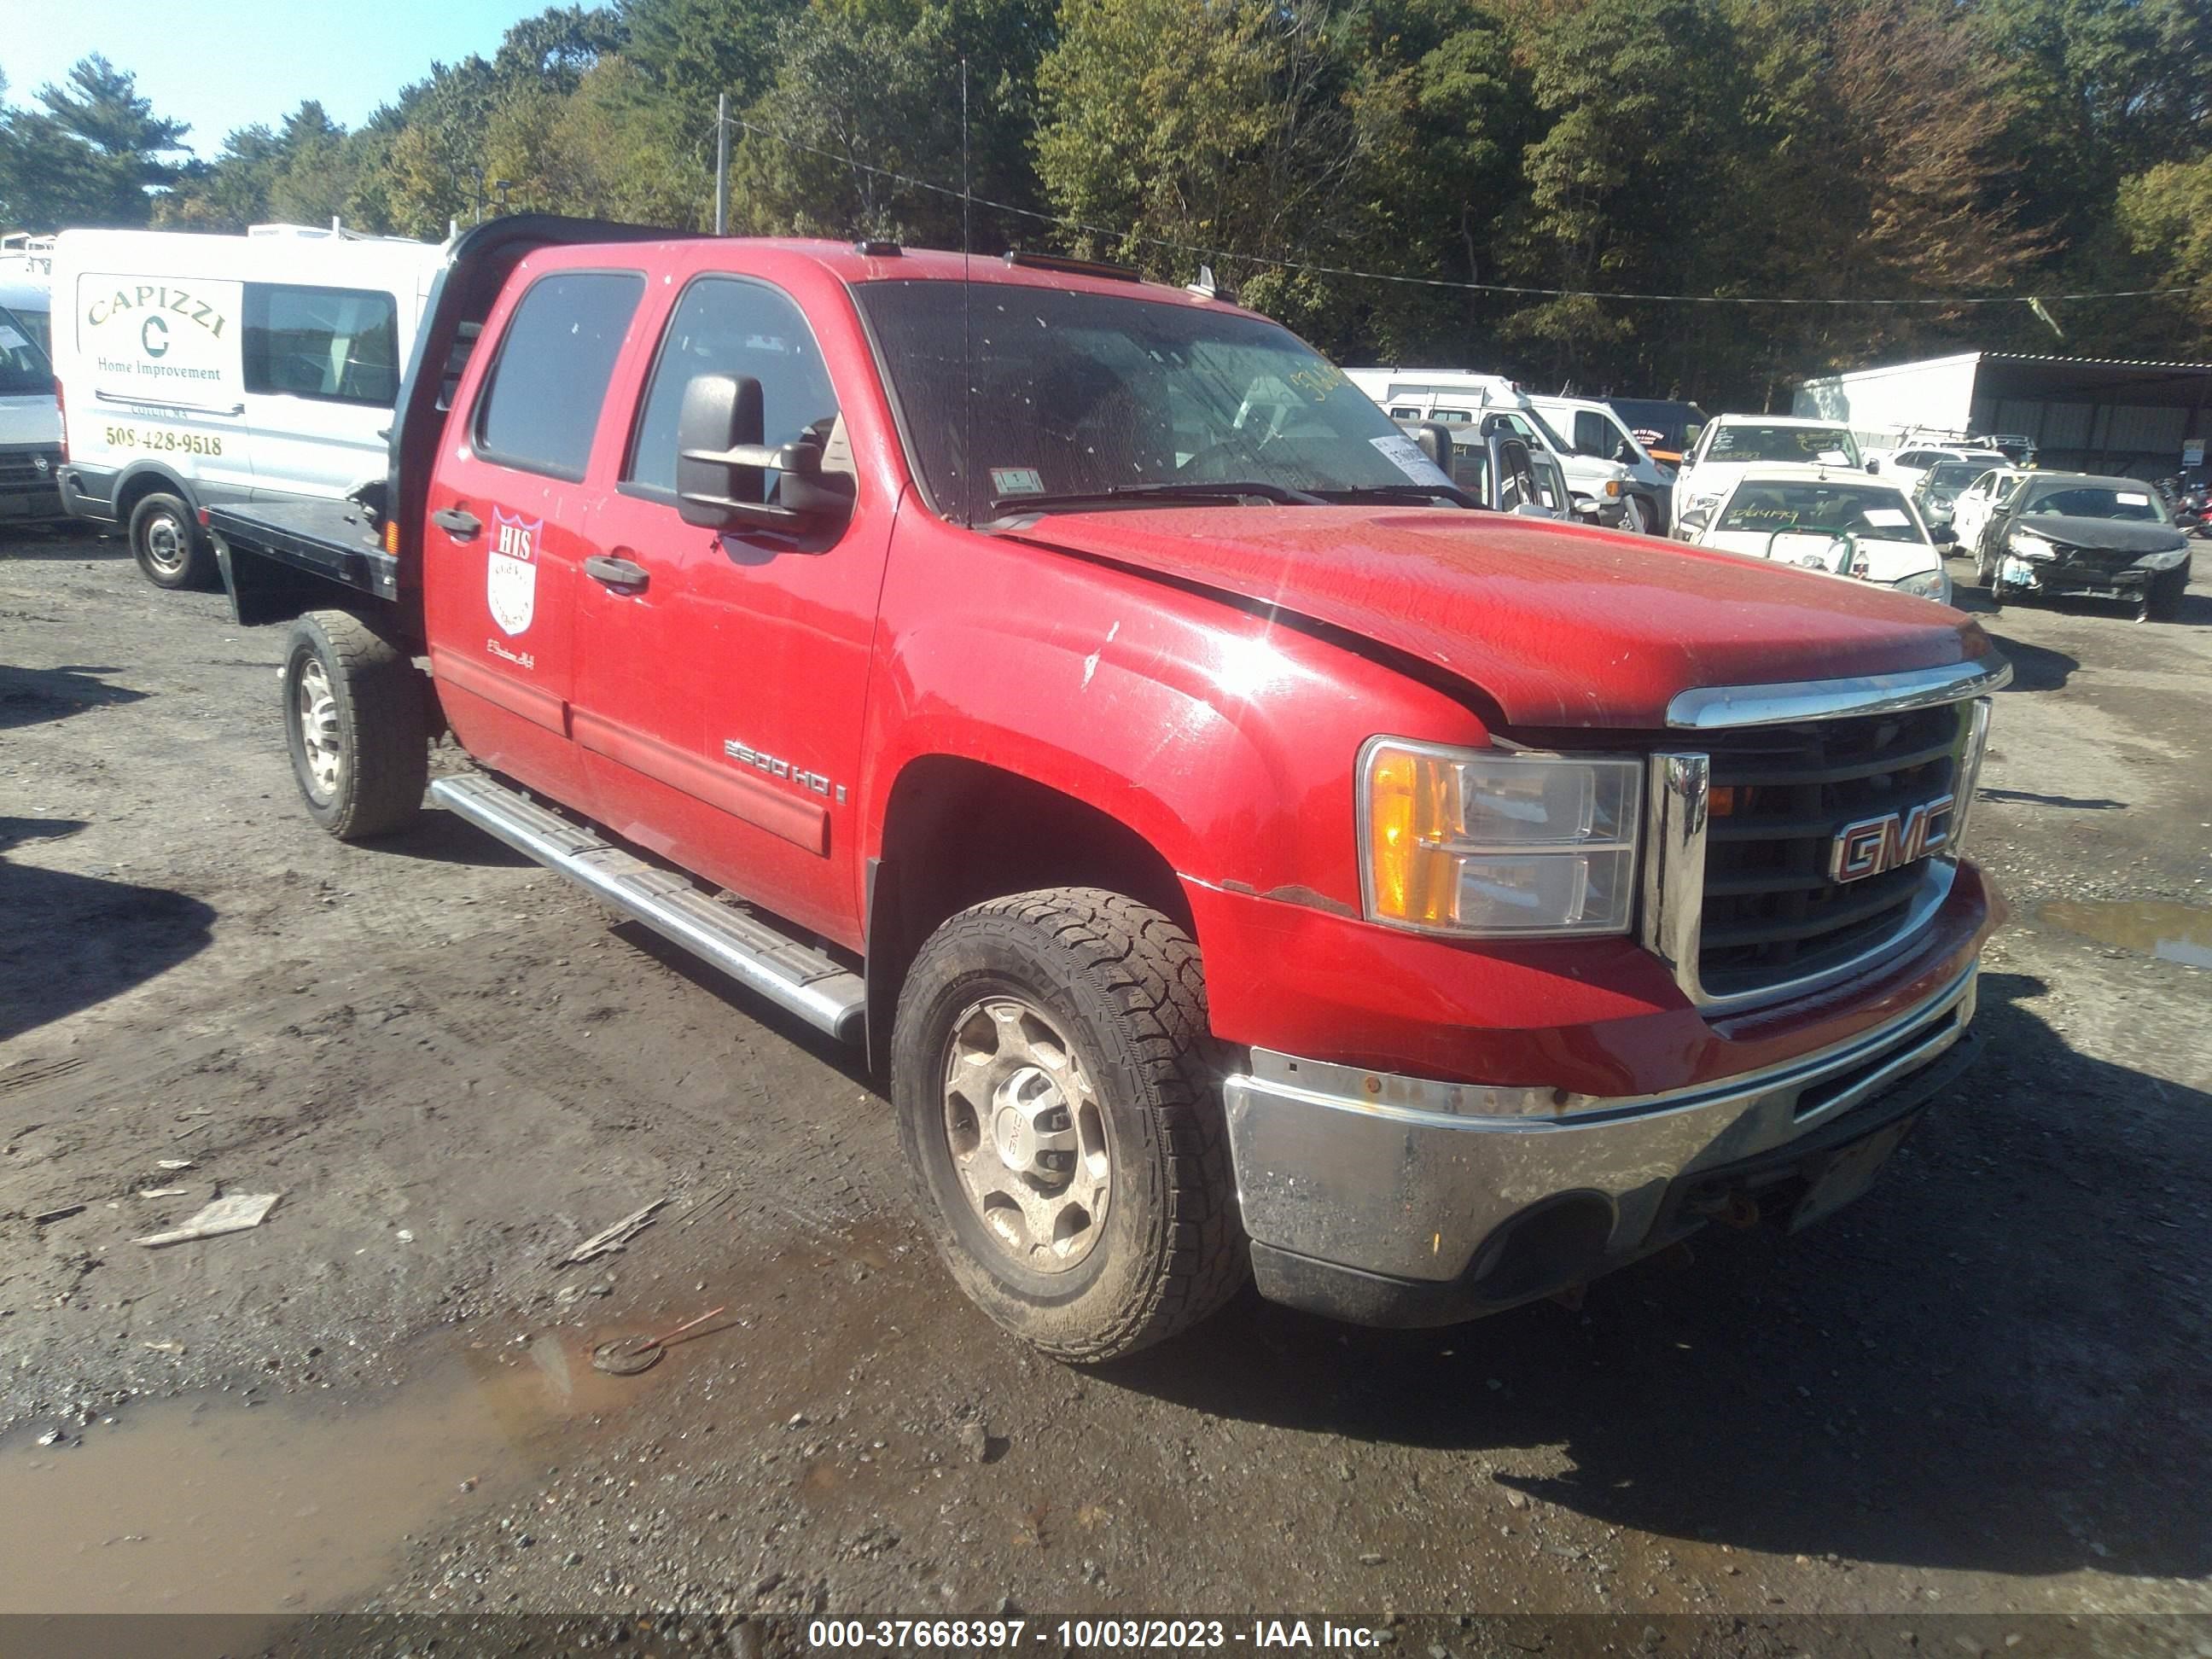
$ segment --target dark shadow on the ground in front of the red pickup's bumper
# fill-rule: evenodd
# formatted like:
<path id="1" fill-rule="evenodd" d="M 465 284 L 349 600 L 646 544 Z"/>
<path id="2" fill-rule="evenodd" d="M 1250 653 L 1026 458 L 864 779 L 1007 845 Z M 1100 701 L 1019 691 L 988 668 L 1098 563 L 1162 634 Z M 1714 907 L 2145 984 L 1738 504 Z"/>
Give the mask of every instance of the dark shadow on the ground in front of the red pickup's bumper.
<path id="1" fill-rule="evenodd" d="M 1599 1281 L 1579 1314 L 1444 1332 L 1248 1296 L 1102 1380 L 1389 1444 L 1557 1444 L 1573 1473 L 1506 1484 L 1681 1540 L 2197 1577 L 2212 1097 L 2077 1053 L 2042 995 L 1984 975 L 1978 1068 L 1869 1197 L 1796 1239 L 1708 1232 L 1688 1270 Z"/>

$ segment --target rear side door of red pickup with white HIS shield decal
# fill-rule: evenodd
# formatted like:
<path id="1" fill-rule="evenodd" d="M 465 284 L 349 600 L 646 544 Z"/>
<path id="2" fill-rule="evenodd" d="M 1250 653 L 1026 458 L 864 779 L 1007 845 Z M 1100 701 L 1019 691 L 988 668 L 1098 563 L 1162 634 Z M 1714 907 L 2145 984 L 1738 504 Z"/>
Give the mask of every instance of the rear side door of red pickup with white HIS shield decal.
<path id="1" fill-rule="evenodd" d="M 422 611 L 453 734 L 586 810 L 568 739 L 575 593 L 591 555 L 584 478 L 644 292 L 635 270 L 553 270 L 493 316 L 493 349 L 478 347 L 462 376 L 425 500 Z"/>

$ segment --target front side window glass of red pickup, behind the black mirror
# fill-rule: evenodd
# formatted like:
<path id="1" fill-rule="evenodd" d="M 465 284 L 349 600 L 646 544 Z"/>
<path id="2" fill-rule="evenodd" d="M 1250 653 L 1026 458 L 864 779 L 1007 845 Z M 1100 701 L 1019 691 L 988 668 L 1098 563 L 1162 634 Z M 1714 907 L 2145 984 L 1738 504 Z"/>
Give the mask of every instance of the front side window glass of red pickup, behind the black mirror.
<path id="1" fill-rule="evenodd" d="M 761 442 L 787 445 L 807 427 L 823 440 L 836 418 L 836 389 L 805 314 L 765 283 L 701 276 L 677 301 L 661 354 L 646 387 L 644 414 L 622 478 L 639 495 L 677 491 L 677 416 L 684 392 L 701 374 L 734 374 L 761 383 Z M 774 484 L 770 473 L 770 484 Z M 774 491 L 770 489 L 770 500 Z"/>

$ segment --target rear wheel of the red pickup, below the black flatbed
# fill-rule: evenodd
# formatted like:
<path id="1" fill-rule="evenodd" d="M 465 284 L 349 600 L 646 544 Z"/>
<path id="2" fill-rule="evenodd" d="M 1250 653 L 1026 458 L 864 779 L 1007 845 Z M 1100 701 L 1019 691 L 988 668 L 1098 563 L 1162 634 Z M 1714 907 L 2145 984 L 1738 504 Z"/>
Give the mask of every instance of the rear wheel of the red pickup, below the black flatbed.
<path id="1" fill-rule="evenodd" d="M 425 692 L 407 653 L 349 611 L 310 611 L 292 624 L 283 657 L 292 776 L 338 841 L 405 830 L 422 812 Z"/>

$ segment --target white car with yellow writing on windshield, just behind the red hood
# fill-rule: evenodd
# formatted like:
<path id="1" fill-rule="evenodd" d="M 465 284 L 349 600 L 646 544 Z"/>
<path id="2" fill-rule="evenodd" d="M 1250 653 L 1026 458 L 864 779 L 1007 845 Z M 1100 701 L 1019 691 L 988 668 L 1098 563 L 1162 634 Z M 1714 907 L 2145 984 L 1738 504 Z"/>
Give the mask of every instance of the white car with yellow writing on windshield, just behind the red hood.
<path id="1" fill-rule="evenodd" d="M 1694 546 L 1951 604 L 1951 577 L 1911 498 L 1851 467 L 1745 467 L 1694 520 L 1683 526 Z"/>

